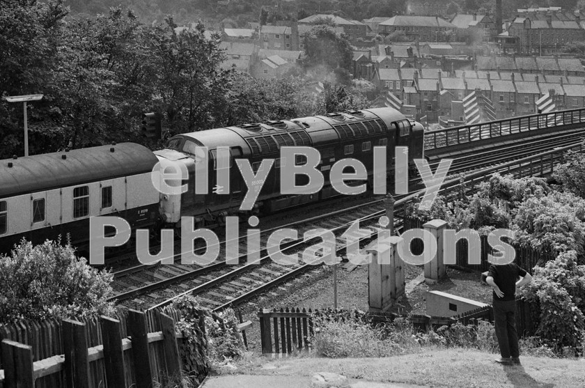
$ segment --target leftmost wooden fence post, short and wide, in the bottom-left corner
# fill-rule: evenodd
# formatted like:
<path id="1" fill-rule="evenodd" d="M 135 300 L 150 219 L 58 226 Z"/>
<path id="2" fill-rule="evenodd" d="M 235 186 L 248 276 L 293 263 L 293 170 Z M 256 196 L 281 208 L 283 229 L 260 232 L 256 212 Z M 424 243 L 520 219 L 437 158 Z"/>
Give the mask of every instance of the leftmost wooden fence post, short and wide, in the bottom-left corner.
<path id="1" fill-rule="evenodd" d="M 34 387 L 33 348 L 8 339 L 2 340 L 4 388 Z"/>

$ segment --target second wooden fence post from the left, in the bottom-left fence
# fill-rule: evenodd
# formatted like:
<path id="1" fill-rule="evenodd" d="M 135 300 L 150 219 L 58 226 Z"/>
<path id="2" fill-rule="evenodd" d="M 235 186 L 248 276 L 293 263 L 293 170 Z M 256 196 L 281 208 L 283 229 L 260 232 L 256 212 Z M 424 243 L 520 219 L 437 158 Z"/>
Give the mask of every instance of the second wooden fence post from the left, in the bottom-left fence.
<path id="1" fill-rule="evenodd" d="M 63 350 L 65 352 L 65 380 L 68 388 L 89 387 L 89 362 L 85 323 L 64 319 Z"/>

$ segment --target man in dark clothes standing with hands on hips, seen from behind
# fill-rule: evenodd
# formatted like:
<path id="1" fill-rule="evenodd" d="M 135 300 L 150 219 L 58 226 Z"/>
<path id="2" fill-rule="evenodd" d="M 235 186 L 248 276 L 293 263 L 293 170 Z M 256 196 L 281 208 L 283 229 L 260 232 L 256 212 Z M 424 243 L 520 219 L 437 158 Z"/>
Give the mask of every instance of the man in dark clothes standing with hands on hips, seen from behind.
<path id="1" fill-rule="evenodd" d="M 518 277 L 522 279 L 518 280 Z M 517 288 L 532 280 L 531 275 L 514 263 L 492 264 L 487 272 L 485 282 L 494 289 L 494 324 L 500 348 L 499 364 L 520 364 L 518 334 L 516 332 L 516 297 Z"/>

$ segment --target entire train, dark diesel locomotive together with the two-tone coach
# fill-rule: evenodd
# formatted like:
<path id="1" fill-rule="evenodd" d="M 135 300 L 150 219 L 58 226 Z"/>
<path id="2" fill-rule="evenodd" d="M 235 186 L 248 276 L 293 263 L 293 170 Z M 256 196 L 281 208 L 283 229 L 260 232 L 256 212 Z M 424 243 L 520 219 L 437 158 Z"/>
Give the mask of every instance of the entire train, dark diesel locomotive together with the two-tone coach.
<path id="1" fill-rule="evenodd" d="M 19 157 L 0 162 L 0 252 L 7 253 L 22 238 L 40 243 L 70 235 L 72 245 L 86 251 L 91 239 L 89 218 L 117 216 L 132 230 L 178 227 L 180 217 L 196 224 L 221 223 L 238 212 L 247 185 L 235 160 L 247 159 L 258 169 L 262 160 L 274 166 L 256 201 L 257 212 L 278 212 L 338 195 L 329 183 L 329 171 L 338 160 L 354 158 L 366 166 L 373 180 L 373 148 L 386 146 L 389 173 L 396 146 L 409 150 L 409 162 L 424 157 L 423 125 L 391 108 L 346 111 L 283 121 L 251 123 L 171 137 L 166 148 L 154 153 L 135 143 L 120 143 L 61 153 Z M 307 146 L 320 152 L 317 168 L 325 178 L 315 194 L 282 195 L 279 169 L 285 163 L 304 164 L 306 158 L 281 160 L 282 146 Z M 196 164 L 208 163 L 208 187 L 217 186 L 217 149 L 230 150 L 230 190 L 196 194 Z M 202 157 L 201 148 L 208 149 Z M 182 194 L 161 194 L 153 185 L 153 169 L 168 160 L 183 164 L 189 189 Z M 298 176 L 302 185 L 303 176 Z"/>

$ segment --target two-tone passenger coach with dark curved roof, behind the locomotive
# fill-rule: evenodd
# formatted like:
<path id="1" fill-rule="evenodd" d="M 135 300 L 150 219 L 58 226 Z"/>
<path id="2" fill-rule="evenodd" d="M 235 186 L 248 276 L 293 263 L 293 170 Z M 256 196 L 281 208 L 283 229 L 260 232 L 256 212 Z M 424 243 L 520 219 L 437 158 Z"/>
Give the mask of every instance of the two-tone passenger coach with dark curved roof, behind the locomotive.
<path id="1" fill-rule="evenodd" d="M 2 160 L 0 251 L 22 238 L 38 244 L 67 234 L 83 251 L 89 217 L 98 215 L 123 217 L 133 230 L 150 228 L 159 215 L 150 178 L 157 162 L 134 143 Z"/>

